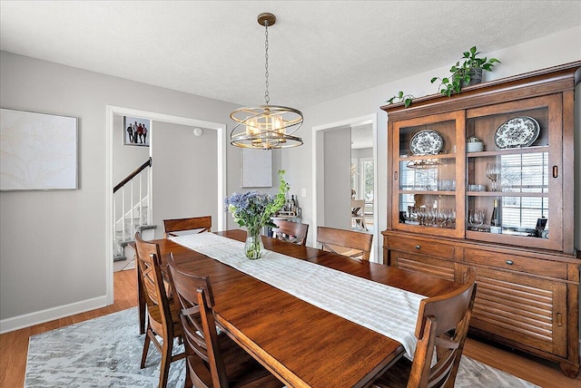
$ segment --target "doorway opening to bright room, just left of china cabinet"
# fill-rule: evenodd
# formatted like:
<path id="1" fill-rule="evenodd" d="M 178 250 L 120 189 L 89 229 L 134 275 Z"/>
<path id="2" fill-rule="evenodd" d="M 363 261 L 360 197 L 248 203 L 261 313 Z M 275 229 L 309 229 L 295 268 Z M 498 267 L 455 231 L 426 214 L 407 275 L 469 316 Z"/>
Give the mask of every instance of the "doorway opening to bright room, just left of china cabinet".
<path id="1" fill-rule="evenodd" d="M 371 260 L 377 261 L 379 231 L 375 228 L 378 225 L 375 199 L 378 179 L 374 141 L 377 139 L 377 115 L 320 125 L 313 130 L 313 224 L 354 228 L 373 234 Z M 354 194 L 353 199 L 364 200 L 363 224 L 353 223 L 350 194 Z M 317 240 L 316 230 L 313 228 L 313 241 Z"/>

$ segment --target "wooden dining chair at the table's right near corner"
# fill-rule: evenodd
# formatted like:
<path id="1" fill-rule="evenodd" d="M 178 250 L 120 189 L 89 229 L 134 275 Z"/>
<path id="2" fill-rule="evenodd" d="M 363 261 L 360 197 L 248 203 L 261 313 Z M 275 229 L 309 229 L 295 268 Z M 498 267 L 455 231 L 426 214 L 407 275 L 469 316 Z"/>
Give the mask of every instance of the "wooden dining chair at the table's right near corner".
<path id="1" fill-rule="evenodd" d="M 415 334 L 418 344 L 413 362 L 401 357 L 373 386 L 454 387 L 476 296 L 474 267 L 468 267 L 466 278 L 458 290 L 419 303 Z M 435 363 L 432 362 L 434 355 Z"/>

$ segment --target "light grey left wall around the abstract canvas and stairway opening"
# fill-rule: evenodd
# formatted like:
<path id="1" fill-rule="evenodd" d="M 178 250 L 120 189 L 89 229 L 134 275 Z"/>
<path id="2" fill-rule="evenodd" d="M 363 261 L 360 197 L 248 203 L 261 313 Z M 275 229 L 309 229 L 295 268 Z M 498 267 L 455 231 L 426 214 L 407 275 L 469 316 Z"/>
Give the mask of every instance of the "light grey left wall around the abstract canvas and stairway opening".
<path id="1" fill-rule="evenodd" d="M 105 244 L 106 105 L 229 127 L 230 112 L 238 106 L 5 52 L 0 84 L 3 108 L 79 119 L 79 189 L 0 193 L 5 331 L 105 304 L 105 252 L 112 248 Z M 240 150 L 230 145 L 226 150 L 230 193 L 240 190 Z M 274 165 L 281 165 L 278 153 Z"/>

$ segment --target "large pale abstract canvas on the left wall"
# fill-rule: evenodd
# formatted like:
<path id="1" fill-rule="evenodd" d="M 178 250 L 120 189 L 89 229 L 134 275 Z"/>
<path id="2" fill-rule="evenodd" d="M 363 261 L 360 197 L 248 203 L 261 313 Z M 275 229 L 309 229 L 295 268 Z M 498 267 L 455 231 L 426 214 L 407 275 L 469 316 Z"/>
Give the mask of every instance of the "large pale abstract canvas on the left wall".
<path id="1" fill-rule="evenodd" d="M 0 109 L 0 190 L 77 189 L 77 119 Z"/>

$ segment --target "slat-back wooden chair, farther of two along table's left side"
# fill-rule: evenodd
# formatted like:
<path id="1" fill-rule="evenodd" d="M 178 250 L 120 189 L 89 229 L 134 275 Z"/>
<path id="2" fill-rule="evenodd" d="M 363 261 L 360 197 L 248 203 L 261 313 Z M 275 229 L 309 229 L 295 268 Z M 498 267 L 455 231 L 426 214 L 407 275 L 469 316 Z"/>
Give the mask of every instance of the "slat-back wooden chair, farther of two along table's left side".
<path id="1" fill-rule="evenodd" d="M 179 308 L 176 308 L 176 305 L 171 303 L 168 298 L 168 294 L 172 293 L 172 286 L 169 278 L 164 278 L 162 275 L 159 245 L 143 241 L 140 233 L 137 232 L 135 233 L 135 246 L 143 296 L 147 304 L 147 328 L 140 368 L 143 369 L 145 366 L 149 345 L 153 342 L 162 354 L 159 386 L 164 388 L 167 384 L 170 364 L 185 357 L 185 352 L 172 354 L 173 339 L 183 338 Z M 161 337 L 162 342 L 158 340 L 157 336 Z"/>

